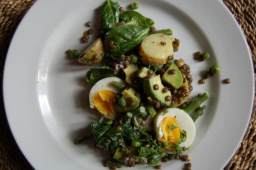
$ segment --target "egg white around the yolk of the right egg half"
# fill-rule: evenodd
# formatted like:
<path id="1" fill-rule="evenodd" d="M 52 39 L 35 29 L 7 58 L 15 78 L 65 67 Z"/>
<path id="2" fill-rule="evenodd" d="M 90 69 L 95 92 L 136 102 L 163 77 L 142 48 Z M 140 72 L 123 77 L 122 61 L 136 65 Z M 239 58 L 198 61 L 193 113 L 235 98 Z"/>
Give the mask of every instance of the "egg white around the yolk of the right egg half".
<path id="1" fill-rule="evenodd" d="M 164 136 L 161 128 L 161 121 L 166 117 L 173 117 L 178 122 L 178 126 L 180 128 L 180 132 L 182 133 L 182 130 L 185 130 L 187 133 L 187 138 L 184 142 L 180 144 L 181 147 L 189 147 L 191 146 L 192 142 L 194 141 L 194 138 L 196 136 L 196 127 L 194 124 L 194 121 L 191 119 L 190 115 L 186 113 L 185 111 L 182 111 L 181 109 L 171 107 L 167 109 L 168 112 L 164 114 L 164 111 L 160 111 L 157 113 L 154 119 L 154 130 L 156 132 L 156 138 L 158 140 L 161 140 L 161 138 Z M 159 130 L 158 130 L 159 127 Z"/>

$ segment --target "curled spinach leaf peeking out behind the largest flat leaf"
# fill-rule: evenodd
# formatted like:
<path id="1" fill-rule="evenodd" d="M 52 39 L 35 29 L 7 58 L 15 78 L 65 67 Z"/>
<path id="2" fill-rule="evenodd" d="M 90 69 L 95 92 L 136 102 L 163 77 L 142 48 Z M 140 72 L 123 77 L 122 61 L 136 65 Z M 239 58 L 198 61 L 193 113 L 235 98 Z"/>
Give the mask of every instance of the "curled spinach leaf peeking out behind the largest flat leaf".
<path id="1" fill-rule="evenodd" d="M 136 11 L 124 11 L 119 16 L 119 21 L 128 22 L 130 20 L 134 20 L 136 23 L 138 23 L 139 26 L 143 27 L 154 27 L 154 21 L 150 18 L 144 17 L 142 14 Z"/>

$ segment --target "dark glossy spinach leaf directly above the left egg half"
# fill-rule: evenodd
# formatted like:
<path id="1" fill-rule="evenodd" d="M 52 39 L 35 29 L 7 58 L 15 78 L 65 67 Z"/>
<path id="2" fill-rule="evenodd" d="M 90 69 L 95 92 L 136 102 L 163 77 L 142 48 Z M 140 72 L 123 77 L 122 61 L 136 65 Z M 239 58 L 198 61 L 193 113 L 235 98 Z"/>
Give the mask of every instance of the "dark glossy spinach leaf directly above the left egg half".
<path id="1" fill-rule="evenodd" d="M 87 71 L 85 77 L 88 83 L 90 83 L 91 85 L 94 85 L 99 80 L 104 79 L 106 77 L 122 77 L 122 75 L 120 72 L 115 74 L 114 70 L 111 67 L 104 66 L 104 67 L 91 68 L 90 71 Z"/>

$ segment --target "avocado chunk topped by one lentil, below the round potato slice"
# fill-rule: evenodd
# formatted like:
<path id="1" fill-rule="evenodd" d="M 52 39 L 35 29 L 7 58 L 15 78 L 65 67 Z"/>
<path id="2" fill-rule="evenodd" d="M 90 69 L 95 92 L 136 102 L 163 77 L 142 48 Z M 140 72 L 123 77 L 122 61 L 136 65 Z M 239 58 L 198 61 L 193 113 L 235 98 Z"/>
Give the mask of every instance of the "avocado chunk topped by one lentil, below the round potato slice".
<path id="1" fill-rule="evenodd" d="M 174 69 L 176 73 L 170 73 L 171 69 Z M 171 63 L 170 67 L 164 73 L 162 81 L 168 85 L 171 85 L 174 89 L 178 89 L 182 85 L 183 77 L 176 64 Z"/>

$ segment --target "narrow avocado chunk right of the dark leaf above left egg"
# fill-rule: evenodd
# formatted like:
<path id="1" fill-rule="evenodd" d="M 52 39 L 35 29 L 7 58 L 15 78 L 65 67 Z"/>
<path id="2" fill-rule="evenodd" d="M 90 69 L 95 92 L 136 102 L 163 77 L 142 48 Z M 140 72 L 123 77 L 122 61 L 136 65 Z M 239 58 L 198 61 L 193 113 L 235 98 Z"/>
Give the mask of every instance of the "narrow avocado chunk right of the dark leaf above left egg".
<path id="1" fill-rule="evenodd" d="M 137 65 L 130 63 L 129 66 L 126 69 L 123 69 L 125 73 L 125 81 L 128 83 L 128 85 L 134 87 L 135 89 L 138 89 L 140 87 L 139 82 L 134 79 L 134 74 L 138 73 L 139 68 Z"/>

